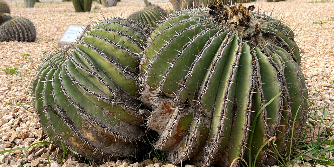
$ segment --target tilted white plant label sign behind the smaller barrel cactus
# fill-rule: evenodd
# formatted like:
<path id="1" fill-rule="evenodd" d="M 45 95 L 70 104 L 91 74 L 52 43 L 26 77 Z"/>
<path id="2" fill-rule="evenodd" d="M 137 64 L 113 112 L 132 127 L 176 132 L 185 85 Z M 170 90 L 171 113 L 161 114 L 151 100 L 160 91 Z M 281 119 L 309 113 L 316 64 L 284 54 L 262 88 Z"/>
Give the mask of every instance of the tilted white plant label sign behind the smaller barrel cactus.
<path id="1" fill-rule="evenodd" d="M 63 48 L 66 45 L 73 45 L 89 28 L 89 24 L 69 24 L 58 41 L 59 47 Z"/>

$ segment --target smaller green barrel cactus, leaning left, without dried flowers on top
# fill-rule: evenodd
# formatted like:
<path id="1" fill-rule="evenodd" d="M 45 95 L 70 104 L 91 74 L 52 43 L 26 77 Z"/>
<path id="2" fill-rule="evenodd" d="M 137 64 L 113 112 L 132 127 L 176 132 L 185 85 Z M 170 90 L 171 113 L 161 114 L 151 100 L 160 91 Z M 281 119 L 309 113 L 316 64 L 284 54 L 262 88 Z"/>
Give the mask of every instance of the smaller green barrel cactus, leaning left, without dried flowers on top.
<path id="1" fill-rule="evenodd" d="M 145 32 L 125 19 L 104 20 L 75 49 L 42 63 L 32 92 L 50 138 L 97 162 L 134 155 L 145 132 L 136 80 Z"/>

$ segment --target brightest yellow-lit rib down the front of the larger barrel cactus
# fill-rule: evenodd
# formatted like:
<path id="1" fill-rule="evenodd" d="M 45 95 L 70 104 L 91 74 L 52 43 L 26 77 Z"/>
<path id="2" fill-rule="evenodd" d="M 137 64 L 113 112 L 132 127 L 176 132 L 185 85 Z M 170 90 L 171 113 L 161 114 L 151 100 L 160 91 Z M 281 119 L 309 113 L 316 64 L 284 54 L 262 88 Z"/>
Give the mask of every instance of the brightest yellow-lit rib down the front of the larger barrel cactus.
<path id="1" fill-rule="evenodd" d="M 230 96 L 234 96 L 233 87 L 235 84 L 233 83 L 235 83 L 235 70 L 237 69 L 236 66 L 240 54 L 237 35 L 232 35 L 230 39 L 230 47 L 223 54 L 227 57 L 225 61 L 222 61 L 224 65 L 220 64 L 219 66 L 222 68 L 217 69 L 214 73 L 214 75 L 220 75 L 220 78 L 217 78 L 218 83 L 216 83 L 219 85 L 219 88 L 216 90 L 216 97 L 213 99 L 212 123 L 207 139 L 210 142 L 205 143 L 206 154 L 202 155 L 202 159 L 204 159 L 202 166 L 217 162 L 222 158 L 222 151 L 226 147 L 230 133 L 230 129 L 225 130 L 225 127 L 228 126 L 231 120 L 231 113 L 227 113 L 227 110 L 230 109 L 229 106 L 233 100 Z"/>

